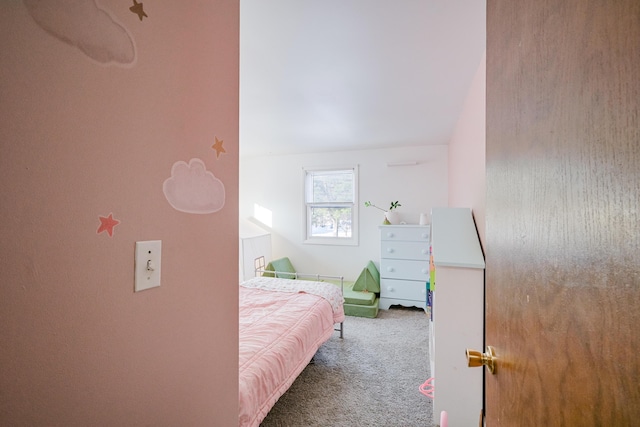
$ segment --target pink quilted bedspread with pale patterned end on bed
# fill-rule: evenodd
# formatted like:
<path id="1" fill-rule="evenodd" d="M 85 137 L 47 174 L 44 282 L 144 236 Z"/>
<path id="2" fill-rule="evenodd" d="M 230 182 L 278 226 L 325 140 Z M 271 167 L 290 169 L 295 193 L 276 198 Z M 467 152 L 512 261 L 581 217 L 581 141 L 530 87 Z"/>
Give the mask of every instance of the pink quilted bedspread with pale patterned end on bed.
<path id="1" fill-rule="evenodd" d="M 260 277 L 240 286 L 240 426 L 260 424 L 343 320 L 332 284 Z"/>

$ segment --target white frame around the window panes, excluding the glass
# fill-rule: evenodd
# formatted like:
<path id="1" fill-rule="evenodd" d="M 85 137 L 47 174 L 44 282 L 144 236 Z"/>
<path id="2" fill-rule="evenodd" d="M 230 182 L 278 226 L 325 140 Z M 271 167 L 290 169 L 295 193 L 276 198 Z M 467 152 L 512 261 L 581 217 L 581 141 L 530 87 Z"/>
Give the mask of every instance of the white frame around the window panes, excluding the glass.
<path id="1" fill-rule="evenodd" d="M 353 173 L 353 201 L 352 202 L 330 202 L 331 207 L 336 205 L 344 205 L 351 208 L 351 237 L 338 236 L 311 236 L 311 210 L 316 207 L 323 207 L 327 203 L 308 202 L 309 197 L 307 191 L 312 187 L 309 186 L 309 176 L 322 172 L 339 172 L 351 171 Z M 302 243 L 311 245 L 332 245 L 332 246 L 358 246 L 358 165 L 351 166 L 333 166 L 333 167 L 303 167 L 302 168 L 302 201 L 303 201 L 303 236 Z"/>

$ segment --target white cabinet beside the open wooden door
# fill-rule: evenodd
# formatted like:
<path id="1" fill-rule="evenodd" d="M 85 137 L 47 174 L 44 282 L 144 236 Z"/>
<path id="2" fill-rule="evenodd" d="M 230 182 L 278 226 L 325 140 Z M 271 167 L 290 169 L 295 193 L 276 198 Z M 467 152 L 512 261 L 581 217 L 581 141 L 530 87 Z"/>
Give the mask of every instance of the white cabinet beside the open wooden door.
<path id="1" fill-rule="evenodd" d="M 471 209 L 431 210 L 434 285 L 430 322 L 433 413 L 450 427 L 478 425 L 483 368 L 469 368 L 465 349 L 484 351 L 484 256 Z"/>

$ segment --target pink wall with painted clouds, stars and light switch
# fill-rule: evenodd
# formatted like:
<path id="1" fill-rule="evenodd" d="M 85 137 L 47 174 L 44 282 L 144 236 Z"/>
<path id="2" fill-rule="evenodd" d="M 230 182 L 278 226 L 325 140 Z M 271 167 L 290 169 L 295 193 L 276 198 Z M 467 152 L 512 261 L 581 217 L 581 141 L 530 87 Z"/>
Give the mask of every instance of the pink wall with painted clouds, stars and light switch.
<path id="1" fill-rule="evenodd" d="M 0 424 L 237 425 L 239 2 L 47 4 L 0 5 Z M 193 158 L 222 209 L 165 197 Z"/>

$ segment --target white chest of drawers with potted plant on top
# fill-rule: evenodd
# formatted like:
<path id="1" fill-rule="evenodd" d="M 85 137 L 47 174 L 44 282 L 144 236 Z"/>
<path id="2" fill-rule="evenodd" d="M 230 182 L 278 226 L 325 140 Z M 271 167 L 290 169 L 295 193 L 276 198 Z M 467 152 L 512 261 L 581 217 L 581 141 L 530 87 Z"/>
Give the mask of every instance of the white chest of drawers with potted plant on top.
<path id="1" fill-rule="evenodd" d="M 426 307 L 429 226 L 380 226 L 380 308 Z"/>

